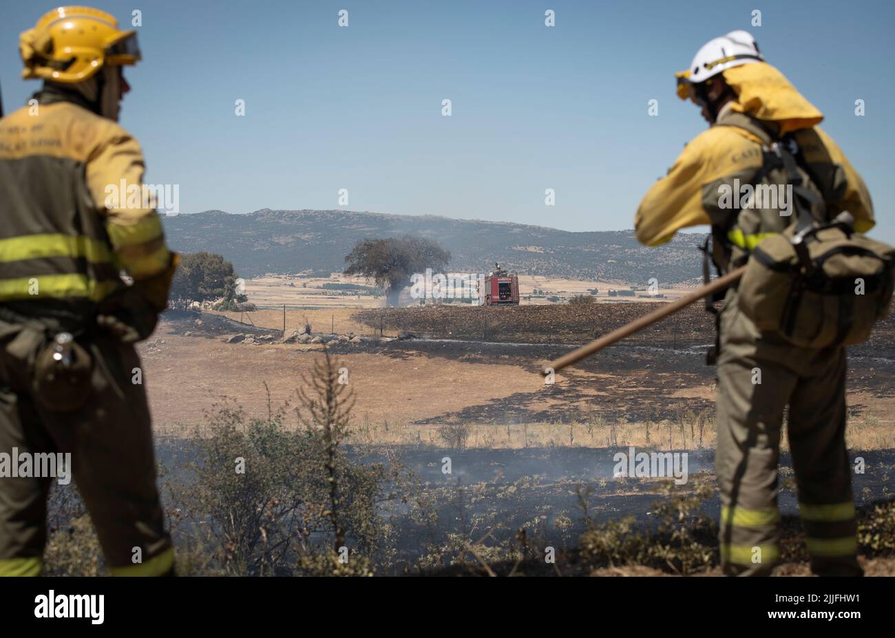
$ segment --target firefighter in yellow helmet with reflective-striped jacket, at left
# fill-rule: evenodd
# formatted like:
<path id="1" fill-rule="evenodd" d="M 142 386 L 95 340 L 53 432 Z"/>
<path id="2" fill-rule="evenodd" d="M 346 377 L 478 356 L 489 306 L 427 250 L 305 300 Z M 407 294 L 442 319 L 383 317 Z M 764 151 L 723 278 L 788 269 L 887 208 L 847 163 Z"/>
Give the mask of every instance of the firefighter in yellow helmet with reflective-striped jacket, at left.
<path id="1" fill-rule="evenodd" d="M 166 308 L 177 258 L 140 145 L 117 123 L 136 35 L 59 7 L 20 52 L 43 88 L 0 119 L 0 575 L 41 573 L 47 493 L 64 472 L 112 574 L 173 574 L 133 344 Z"/>

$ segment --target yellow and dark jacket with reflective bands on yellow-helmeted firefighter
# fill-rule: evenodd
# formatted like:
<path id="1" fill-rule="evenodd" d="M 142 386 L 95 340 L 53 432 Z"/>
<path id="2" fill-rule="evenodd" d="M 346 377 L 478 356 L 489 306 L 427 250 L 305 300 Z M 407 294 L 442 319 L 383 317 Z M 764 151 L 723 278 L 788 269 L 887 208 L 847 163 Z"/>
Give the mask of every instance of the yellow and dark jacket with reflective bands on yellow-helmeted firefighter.
<path id="1" fill-rule="evenodd" d="M 142 187 L 140 145 L 76 91 L 35 98 L 0 121 L 0 304 L 90 325 L 124 271 L 149 309 L 164 310 L 175 256 Z"/>

